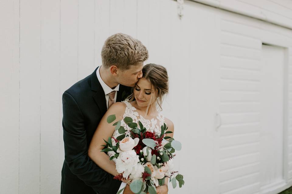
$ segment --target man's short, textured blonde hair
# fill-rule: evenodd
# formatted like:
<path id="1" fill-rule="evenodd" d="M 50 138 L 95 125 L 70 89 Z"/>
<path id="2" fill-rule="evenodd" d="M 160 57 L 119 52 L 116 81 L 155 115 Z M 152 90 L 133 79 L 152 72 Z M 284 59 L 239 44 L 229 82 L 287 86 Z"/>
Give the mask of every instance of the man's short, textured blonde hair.
<path id="1" fill-rule="evenodd" d="M 148 59 L 148 50 L 137 39 L 122 33 L 117 33 L 106 39 L 101 50 L 103 66 L 109 68 L 116 65 L 119 69 L 130 69 Z"/>

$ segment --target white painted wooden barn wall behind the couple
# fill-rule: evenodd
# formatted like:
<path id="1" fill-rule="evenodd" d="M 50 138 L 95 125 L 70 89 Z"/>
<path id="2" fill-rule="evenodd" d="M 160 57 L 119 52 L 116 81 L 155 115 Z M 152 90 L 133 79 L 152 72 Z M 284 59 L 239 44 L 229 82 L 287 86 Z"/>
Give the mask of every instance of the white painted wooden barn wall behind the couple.
<path id="1" fill-rule="evenodd" d="M 169 193 L 276 194 L 292 186 L 292 27 L 183 6 L 180 20 L 171 0 L 0 1 L 1 194 L 59 193 L 61 95 L 100 65 L 104 40 L 117 32 L 141 40 L 148 62 L 169 71 L 163 112 L 183 143 L 176 165 L 186 180 Z M 262 42 L 285 53 L 286 104 L 284 182 L 261 191 Z"/>

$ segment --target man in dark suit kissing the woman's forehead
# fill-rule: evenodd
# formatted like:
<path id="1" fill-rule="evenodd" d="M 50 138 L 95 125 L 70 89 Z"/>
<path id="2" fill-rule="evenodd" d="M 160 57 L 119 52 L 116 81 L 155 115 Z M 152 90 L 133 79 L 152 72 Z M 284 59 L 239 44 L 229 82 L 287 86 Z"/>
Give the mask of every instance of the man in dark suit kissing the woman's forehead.
<path id="1" fill-rule="evenodd" d="M 102 66 L 62 96 L 65 160 L 61 194 L 116 194 L 126 185 L 99 168 L 87 151 L 106 110 L 125 99 L 142 77 L 148 50 L 139 40 L 118 33 L 107 38 L 101 56 Z M 123 193 L 132 193 L 128 185 Z"/>

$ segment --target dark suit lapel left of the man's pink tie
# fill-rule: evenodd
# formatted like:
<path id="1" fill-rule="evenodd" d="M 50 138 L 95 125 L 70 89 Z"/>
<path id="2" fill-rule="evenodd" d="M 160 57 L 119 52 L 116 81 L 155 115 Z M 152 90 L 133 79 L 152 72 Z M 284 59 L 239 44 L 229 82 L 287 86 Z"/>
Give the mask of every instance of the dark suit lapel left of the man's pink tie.
<path id="1" fill-rule="evenodd" d="M 102 114 L 106 113 L 106 96 L 103 91 L 103 88 L 101 87 L 97 76 L 96 76 L 96 70 L 98 67 L 95 69 L 95 71 L 90 75 L 90 82 L 91 82 L 91 90 L 95 91 L 96 93 L 93 95 L 93 99 L 96 102 L 100 112 Z"/>

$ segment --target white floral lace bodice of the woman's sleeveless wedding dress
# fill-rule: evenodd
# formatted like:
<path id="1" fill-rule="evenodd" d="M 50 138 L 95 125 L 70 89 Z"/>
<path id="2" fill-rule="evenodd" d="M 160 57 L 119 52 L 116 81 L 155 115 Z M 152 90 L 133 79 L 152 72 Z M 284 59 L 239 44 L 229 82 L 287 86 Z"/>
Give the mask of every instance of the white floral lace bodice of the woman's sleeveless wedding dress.
<path id="1" fill-rule="evenodd" d="M 138 121 L 140 121 L 143 124 L 143 126 L 146 128 L 146 131 L 150 131 L 150 132 L 154 131 L 158 135 L 161 134 L 161 125 L 163 125 L 165 122 L 163 115 L 158 113 L 158 116 L 155 119 L 154 118 L 152 118 L 151 120 L 145 119 L 142 115 L 139 115 L 139 113 L 136 112 L 137 109 L 134 106 L 132 106 L 130 102 L 128 102 L 127 100 L 122 101 L 122 102 L 126 104 L 126 109 L 125 109 L 125 112 L 123 114 L 123 118 L 125 118 L 126 116 L 131 117 L 133 119 L 133 122 L 138 124 L 138 127 L 139 127 Z M 127 125 L 123 120 L 121 120 L 121 126 L 123 126 L 125 129 L 127 129 L 127 127 L 126 127 Z M 120 135 L 121 134 L 118 132 L 118 130 L 115 130 L 113 132 L 114 138 L 117 138 Z M 116 142 L 113 138 L 112 138 L 112 144 L 116 145 Z M 107 152 L 107 155 L 109 157 L 114 156 L 115 152 L 113 152 L 113 151 Z M 115 161 L 115 159 L 113 159 L 113 160 Z"/>

